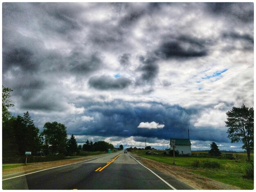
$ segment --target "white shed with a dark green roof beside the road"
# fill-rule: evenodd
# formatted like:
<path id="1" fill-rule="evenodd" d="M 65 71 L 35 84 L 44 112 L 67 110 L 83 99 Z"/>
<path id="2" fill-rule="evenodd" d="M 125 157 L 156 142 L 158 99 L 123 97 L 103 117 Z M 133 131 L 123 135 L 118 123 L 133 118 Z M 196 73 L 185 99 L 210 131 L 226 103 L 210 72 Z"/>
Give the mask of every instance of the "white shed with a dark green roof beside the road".
<path id="1" fill-rule="evenodd" d="M 171 141 L 175 139 L 175 151 L 179 151 L 180 155 L 191 155 L 191 142 L 188 138 L 171 138 L 170 139 L 170 146 Z M 173 146 L 171 146 L 171 150 Z"/>

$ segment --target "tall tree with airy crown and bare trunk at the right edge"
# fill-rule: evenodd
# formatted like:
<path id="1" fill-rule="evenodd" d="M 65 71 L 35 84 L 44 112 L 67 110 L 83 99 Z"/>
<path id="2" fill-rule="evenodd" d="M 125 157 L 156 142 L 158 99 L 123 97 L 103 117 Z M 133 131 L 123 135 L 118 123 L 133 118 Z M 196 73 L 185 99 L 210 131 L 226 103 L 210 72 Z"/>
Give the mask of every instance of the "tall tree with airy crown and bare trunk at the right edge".
<path id="1" fill-rule="evenodd" d="M 250 153 L 254 150 L 254 109 L 245 107 L 233 107 L 227 113 L 226 127 L 231 143 L 243 142 L 242 148 L 247 151 L 247 159 L 251 161 Z"/>

